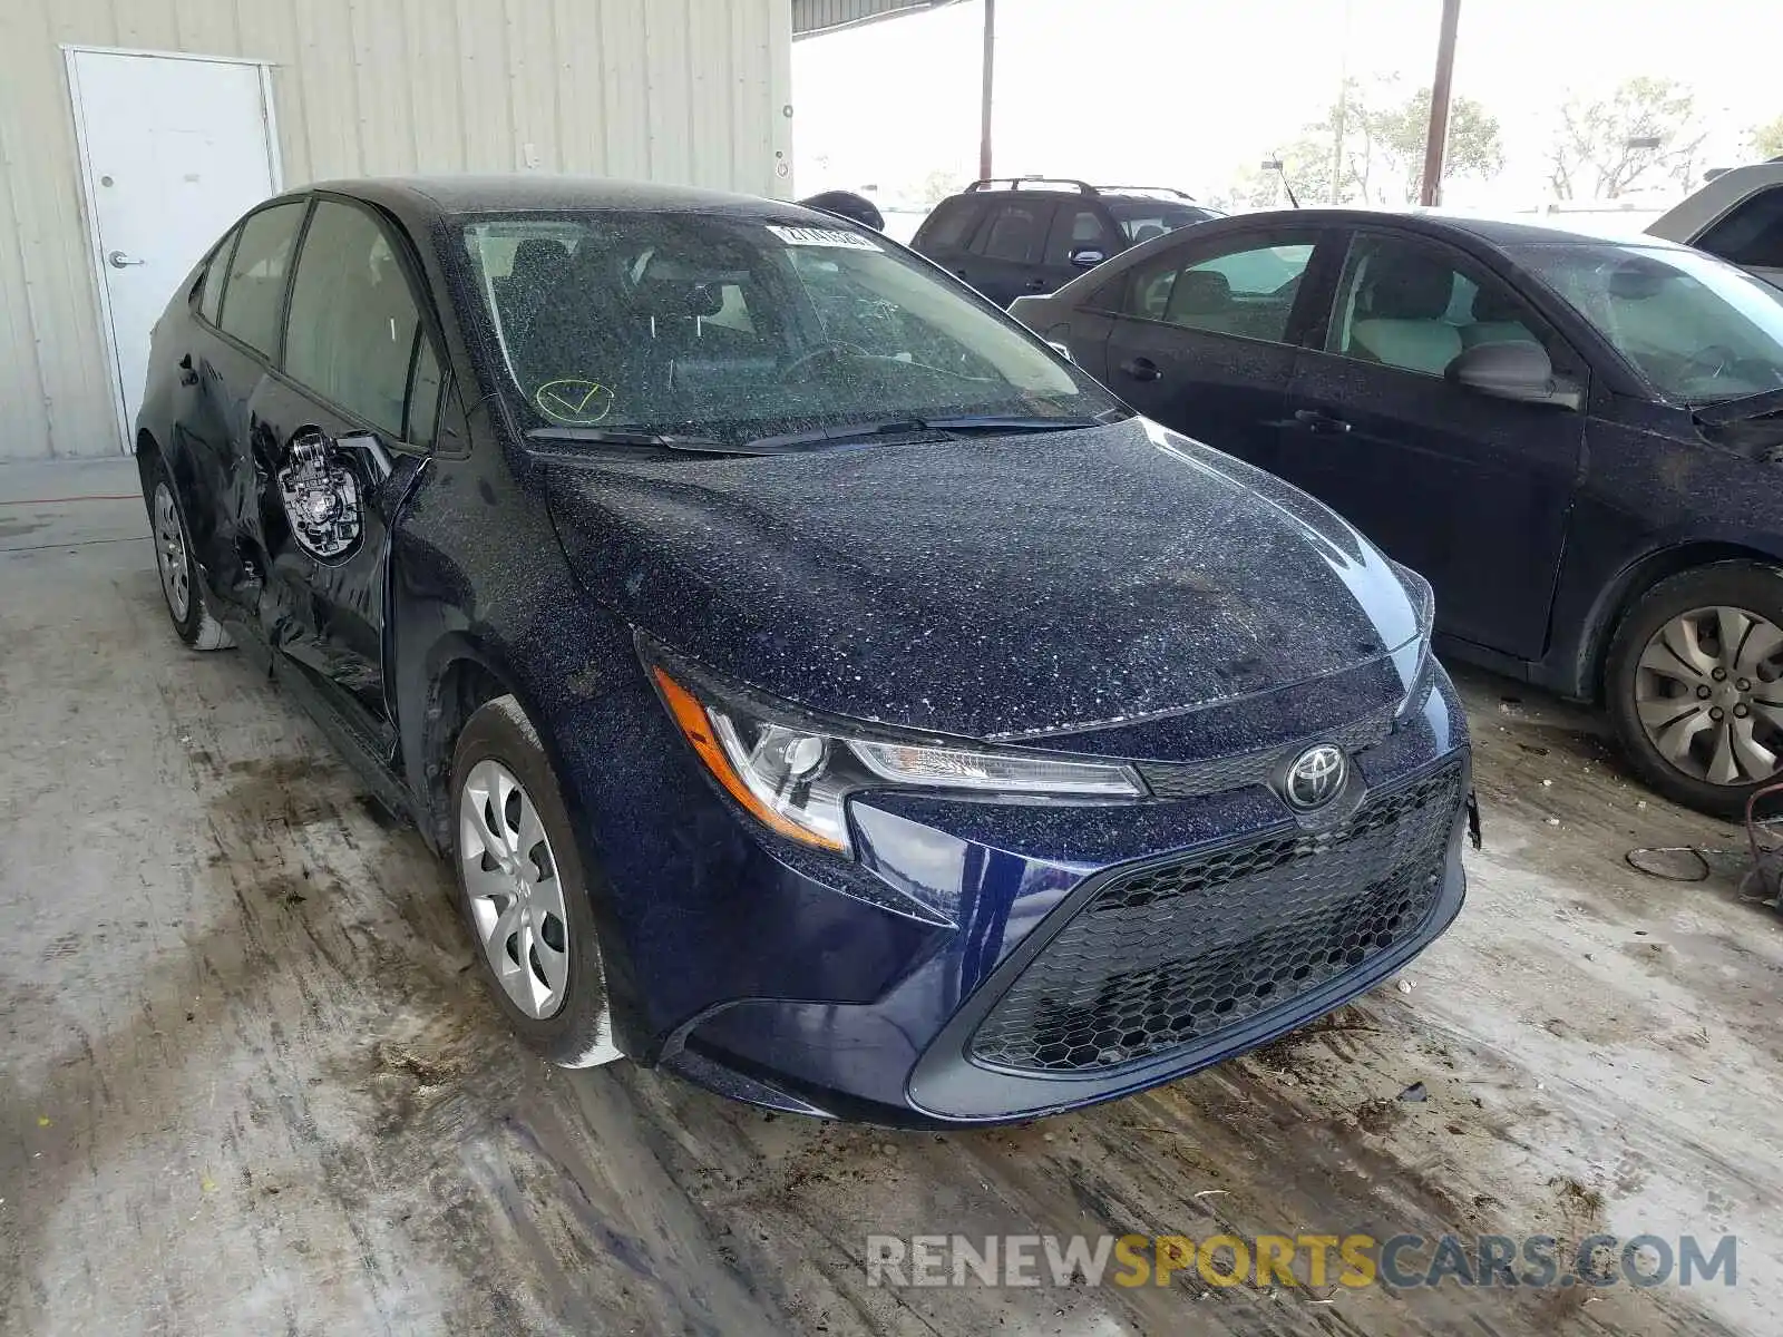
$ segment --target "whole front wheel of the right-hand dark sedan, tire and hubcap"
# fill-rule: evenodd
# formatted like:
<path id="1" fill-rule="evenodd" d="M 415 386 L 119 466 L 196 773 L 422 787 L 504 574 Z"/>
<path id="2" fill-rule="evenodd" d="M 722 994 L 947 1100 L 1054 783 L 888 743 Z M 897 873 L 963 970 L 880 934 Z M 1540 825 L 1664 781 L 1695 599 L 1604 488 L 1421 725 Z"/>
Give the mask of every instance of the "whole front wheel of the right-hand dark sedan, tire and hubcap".
<path id="1" fill-rule="evenodd" d="M 1783 570 L 1717 562 L 1660 581 L 1617 626 L 1603 686 L 1647 784 L 1740 816 L 1783 781 Z"/>

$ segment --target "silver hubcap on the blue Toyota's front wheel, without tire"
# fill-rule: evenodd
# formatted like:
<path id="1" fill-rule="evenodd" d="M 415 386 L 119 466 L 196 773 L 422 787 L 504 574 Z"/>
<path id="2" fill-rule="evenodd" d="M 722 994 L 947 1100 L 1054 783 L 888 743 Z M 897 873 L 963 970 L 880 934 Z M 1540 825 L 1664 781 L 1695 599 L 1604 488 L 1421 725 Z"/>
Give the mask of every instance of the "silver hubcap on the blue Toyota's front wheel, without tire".
<path id="1" fill-rule="evenodd" d="M 563 884 L 538 809 L 499 761 L 478 761 L 465 777 L 458 857 L 489 968 L 515 1007 L 553 1016 L 569 986 Z"/>

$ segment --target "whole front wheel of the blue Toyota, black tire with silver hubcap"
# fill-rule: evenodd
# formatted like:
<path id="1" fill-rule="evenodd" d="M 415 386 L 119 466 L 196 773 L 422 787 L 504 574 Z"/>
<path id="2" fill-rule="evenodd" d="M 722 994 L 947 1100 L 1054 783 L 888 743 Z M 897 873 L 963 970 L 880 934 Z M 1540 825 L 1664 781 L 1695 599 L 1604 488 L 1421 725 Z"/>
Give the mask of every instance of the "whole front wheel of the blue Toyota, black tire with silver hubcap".
<path id="1" fill-rule="evenodd" d="M 562 1068 L 624 1057 L 588 874 L 538 733 L 512 695 L 480 706 L 458 734 L 451 804 L 458 906 L 508 1025 Z"/>

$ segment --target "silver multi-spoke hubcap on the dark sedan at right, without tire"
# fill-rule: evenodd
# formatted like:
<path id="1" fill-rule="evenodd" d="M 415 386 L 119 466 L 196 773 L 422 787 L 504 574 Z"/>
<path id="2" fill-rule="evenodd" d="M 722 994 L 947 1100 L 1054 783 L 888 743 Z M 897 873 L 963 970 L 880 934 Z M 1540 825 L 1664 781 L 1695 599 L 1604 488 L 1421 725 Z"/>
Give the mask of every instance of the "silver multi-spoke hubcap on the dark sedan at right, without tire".
<path id="1" fill-rule="evenodd" d="M 1744 608 L 1694 608 L 1660 627 L 1635 670 L 1653 747 L 1692 779 L 1756 784 L 1783 765 L 1783 629 Z"/>

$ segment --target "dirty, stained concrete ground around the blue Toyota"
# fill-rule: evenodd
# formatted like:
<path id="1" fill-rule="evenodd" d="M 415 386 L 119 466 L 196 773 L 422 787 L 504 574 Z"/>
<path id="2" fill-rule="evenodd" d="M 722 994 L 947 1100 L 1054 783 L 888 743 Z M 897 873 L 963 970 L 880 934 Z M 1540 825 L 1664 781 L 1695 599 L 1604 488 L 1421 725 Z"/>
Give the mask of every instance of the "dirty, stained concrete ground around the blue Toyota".
<path id="1" fill-rule="evenodd" d="M 774 1118 L 510 1043 L 419 838 L 241 656 L 175 642 L 134 490 L 0 469 L 0 1332 L 1776 1332 L 1783 923 L 1587 717 L 1464 677 L 1485 849 L 1410 991 L 1023 1128 Z M 1710 879 L 1623 861 L 1681 843 Z M 1218 1230 L 1735 1234 L 1738 1284 L 863 1269 L 870 1232 Z"/>

